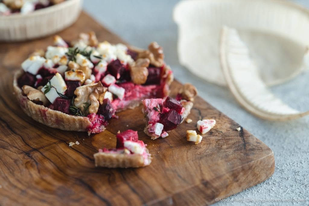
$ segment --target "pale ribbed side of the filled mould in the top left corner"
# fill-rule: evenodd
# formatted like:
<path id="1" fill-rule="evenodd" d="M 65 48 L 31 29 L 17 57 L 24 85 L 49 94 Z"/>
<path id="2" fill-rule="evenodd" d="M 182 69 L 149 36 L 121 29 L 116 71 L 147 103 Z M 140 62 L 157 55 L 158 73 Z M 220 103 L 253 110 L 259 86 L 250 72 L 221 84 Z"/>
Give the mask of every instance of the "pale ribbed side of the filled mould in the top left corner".
<path id="1" fill-rule="evenodd" d="M 28 14 L 0 15 L 0 41 L 23 41 L 69 27 L 78 18 L 83 0 L 66 0 Z"/>

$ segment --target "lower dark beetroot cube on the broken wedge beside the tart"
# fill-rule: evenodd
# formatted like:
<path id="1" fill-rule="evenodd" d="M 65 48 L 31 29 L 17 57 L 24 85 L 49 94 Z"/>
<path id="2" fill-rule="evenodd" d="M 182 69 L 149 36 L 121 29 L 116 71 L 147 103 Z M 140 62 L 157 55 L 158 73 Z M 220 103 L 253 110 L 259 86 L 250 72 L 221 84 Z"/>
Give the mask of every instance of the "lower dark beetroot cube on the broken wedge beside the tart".
<path id="1" fill-rule="evenodd" d="M 175 129 L 183 120 L 183 116 L 181 116 L 177 111 L 171 109 L 167 113 L 163 114 L 160 117 L 159 123 L 163 124 L 164 131 L 168 132 L 172 129 Z"/>

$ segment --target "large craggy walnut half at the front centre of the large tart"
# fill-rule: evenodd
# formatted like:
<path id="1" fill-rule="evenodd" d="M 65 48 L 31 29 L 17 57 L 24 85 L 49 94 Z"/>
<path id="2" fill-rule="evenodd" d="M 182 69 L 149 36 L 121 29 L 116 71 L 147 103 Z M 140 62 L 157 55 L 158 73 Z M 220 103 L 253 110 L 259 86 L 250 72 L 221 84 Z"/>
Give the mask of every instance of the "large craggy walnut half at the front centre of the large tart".
<path id="1" fill-rule="evenodd" d="M 78 107 L 82 112 L 85 112 L 84 106 L 85 103 L 88 103 L 90 104 L 88 110 L 89 114 L 97 113 L 99 104 L 103 104 L 106 90 L 107 88 L 104 87 L 101 82 L 79 86 L 74 91 L 74 95 L 76 95 L 74 106 Z"/>

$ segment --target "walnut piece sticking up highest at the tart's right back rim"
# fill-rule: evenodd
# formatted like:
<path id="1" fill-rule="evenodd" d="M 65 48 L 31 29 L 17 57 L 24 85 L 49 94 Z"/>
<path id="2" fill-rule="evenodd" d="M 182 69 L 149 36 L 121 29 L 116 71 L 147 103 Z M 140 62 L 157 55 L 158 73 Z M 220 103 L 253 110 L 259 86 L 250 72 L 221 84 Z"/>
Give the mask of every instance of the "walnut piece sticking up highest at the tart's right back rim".
<path id="1" fill-rule="evenodd" d="M 164 65 L 163 48 L 157 42 L 151 42 L 148 50 L 138 51 L 137 58 L 147 58 L 150 60 L 150 64 L 156 67 L 162 67 Z"/>

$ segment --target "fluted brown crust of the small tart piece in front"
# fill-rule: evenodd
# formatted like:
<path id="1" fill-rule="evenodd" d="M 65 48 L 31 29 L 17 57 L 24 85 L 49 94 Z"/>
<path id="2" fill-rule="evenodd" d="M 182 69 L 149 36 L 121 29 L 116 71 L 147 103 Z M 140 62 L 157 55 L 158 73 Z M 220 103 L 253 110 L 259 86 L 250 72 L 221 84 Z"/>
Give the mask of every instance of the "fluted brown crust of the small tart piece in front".
<path id="1" fill-rule="evenodd" d="M 149 154 L 148 149 L 146 152 Z M 127 167 L 143 167 L 151 163 L 151 157 L 148 157 L 149 163 L 145 164 L 145 159 L 141 154 L 115 154 L 98 152 L 93 155 L 95 158 L 95 166 L 109 168 L 127 168 Z"/>

